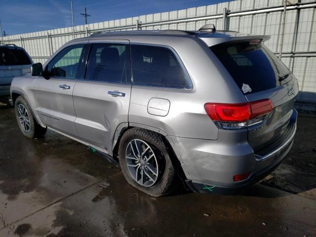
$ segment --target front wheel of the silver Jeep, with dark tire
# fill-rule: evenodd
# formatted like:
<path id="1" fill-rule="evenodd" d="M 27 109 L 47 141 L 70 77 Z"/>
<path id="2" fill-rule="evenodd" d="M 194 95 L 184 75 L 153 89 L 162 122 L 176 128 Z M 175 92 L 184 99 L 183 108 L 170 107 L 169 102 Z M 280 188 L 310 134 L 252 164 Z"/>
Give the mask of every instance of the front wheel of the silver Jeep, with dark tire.
<path id="1" fill-rule="evenodd" d="M 15 116 L 24 136 L 34 138 L 46 133 L 47 128 L 36 122 L 29 104 L 22 95 L 15 100 Z"/>

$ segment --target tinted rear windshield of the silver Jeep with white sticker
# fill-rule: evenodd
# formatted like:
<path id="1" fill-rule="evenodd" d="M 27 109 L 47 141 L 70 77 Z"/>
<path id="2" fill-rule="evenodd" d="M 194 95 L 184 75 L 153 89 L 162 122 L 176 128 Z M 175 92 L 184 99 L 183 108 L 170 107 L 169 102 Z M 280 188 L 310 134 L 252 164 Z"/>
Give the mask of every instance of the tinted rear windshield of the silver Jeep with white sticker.
<path id="1" fill-rule="evenodd" d="M 244 94 L 275 88 L 284 83 L 290 73 L 274 53 L 261 43 L 218 44 L 211 50 Z"/>

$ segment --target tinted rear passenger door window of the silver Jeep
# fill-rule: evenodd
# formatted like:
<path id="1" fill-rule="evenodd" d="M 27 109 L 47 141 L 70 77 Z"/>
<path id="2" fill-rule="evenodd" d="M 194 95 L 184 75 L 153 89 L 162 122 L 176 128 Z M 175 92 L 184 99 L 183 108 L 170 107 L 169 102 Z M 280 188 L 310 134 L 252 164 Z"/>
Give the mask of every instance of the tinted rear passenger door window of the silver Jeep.
<path id="1" fill-rule="evenodd" d="M 85 79 L 130 82 L 128 45 L 122 43 L 92 44 Z"/>

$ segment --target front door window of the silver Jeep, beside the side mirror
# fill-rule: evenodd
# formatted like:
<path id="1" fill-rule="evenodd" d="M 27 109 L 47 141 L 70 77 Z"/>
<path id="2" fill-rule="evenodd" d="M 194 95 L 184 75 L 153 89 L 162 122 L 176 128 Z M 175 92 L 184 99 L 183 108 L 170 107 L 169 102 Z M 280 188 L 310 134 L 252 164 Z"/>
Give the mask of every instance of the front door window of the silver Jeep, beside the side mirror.
<path id="1" fill-rule="evenodd" d="M 63 49 L 47 65 L 49 77 L 76 78 L 83 44 L 69 46 Z"/>

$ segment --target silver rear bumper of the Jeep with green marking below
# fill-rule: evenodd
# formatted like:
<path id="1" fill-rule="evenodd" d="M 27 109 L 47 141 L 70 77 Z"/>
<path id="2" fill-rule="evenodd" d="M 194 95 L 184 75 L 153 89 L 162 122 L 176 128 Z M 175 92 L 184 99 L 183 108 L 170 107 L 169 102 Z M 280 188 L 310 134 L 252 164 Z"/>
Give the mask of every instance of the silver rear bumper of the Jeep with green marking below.
<path id="1" fill-rule="evenodd" d="M 242 192 L 271 173 L 290 151 L 296 132 L 297 112 L 286 139 L 264 155 L 255 155 L 247 141 L 247 131 L 220 131 L 216 141 L 173 137 L 186 182 L 194 192 L 233 195 Z M 243 142 L 245 141 L 245 142 Z M 171 144 L 171 143 L 170 143 Z M 250 172 L 247 179 L 234 182 L 237 174 Z"/>

